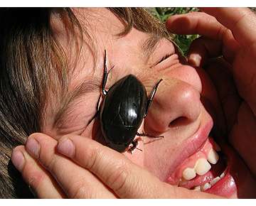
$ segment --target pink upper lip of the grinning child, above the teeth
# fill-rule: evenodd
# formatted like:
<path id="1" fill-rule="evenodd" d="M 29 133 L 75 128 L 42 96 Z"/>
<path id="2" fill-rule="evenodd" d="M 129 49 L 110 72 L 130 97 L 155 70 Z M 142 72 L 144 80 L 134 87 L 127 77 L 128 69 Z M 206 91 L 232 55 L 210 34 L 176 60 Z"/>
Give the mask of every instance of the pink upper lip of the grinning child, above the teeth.
<path id="1" fill-rule="evenodd" d="M 208 135 L 212 128 L 213 120 L 210 119 L 206 124 L 201 124 L 195 134 L 181 143 L 181 146 L 179 146 L 178 151 L 176 152 L 177 156 L 175 161 L 167 173 L 168 176 L 166 177 L 166 181 L 168 180 L 168 182 L 170 182 L 171 179 L 171 184 L 178 184 L 179 178 L 177 179 L 173 176 L 176 168 L 178 168 L 186 158 L 193 155 L 199 148 L 201 148 L 206 139 L 208 139 Z"/>

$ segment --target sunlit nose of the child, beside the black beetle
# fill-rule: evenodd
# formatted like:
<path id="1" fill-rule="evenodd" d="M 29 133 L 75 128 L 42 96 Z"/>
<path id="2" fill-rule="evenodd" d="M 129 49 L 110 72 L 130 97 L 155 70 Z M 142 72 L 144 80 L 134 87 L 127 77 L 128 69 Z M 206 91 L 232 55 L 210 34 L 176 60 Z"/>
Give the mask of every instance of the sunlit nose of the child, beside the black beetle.
<path id="1" fill-rule="evenodd" d="M 149 108 L 145 130 L 163 134 L 170 129 L 193 125 L 201 114 L 200 93 L 178 79 L 164 79 Z"/>

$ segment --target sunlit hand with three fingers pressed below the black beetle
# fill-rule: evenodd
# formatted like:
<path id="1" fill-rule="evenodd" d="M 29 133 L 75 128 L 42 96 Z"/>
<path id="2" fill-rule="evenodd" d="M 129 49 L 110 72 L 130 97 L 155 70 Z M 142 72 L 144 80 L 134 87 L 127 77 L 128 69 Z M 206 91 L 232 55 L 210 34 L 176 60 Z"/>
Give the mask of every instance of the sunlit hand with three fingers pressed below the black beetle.
<path id="1" fill-rule="evenodd" d="M 12 161 L 40 198 L 213 198 L 161 182 L 127 157 L 73 134 L 32 134 Z"/>

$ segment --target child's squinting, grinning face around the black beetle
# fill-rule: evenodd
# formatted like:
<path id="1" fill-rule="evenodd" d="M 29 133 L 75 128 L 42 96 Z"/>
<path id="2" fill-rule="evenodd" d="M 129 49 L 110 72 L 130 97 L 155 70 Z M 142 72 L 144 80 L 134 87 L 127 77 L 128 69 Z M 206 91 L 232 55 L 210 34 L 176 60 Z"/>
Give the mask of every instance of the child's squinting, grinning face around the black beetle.
<path id="1" fill-rule="evenodd" d="M 56 139 L 69 133 L 100 139 L 102 134 L 98 119 L 89 126 L 87 123 L 96 112 L 107 50 L 108 70 L 113 67 L 107 80 L 107 90 L 117 80 L 133 74 L 142 81 L 149 94 L 156 82 L 163 79 L 138 132 L 164 136 L 164 139 L 143 137 L 138 145 L 142 151 L 135 149 L 132 154 L 124 153 L 125 156 L 172 185 L 196 190 L 200 190 L 201 186 L 201 190 L 225 197 L 237 197 L 237 187 L 240 188 L 240 185 L 242 190 L 250 188 L 245 183 L 247 180 L 244 180 L 249 173 L 233 150 L 220 145 L 227 161 L 219 152 L 216 153 L 219 148 L 212 138 L 218 138 L 221 142 L 223 136 L 217 134 L 223 128 L 224 121 L 218 96 L 208 75 L 200 68 L 195 69 L 181 62 L 174 44 L 169 40 L 151 37 L 135 28 L 126 36 L 118 37 L 117 33 L 123 29 L 121 21 L 107 9 L 95 9 L 95 13 L 86 15 L 85 22 L 96 45 L 95 68 L 87 45 L 83 45 L 78 58 L 77 51 L 68 45 L 65 35 L 58 31 L 68 59 L 78 58 L 69 87 L 69 94 L 75 95 L 75 98 L 65 104 L 67 109 L 54 124 L 59 111 L 63 111 L 63 100 L 61 102 L 54 95 L 51 97 L 42 132 Z M 81 86 L 80 90 L 76 90 L 78 86 Z M 216 130 L 215 136 L 210 134 L 213 128 Z M 233 173 L 234 167 L 236 175 Z M 213 178 L 218 180 L 216 177 L 224 171 L 224 177 L 208 189 L 210 185 L 207 183 Z"/>

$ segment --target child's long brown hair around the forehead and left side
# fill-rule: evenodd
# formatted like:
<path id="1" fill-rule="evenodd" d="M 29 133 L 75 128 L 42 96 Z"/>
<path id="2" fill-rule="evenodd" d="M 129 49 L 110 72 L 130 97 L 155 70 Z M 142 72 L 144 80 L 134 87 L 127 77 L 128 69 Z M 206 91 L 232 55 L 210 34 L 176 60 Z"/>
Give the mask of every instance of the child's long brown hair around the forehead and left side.
<path id="1" fill-rule="evenodd" d="M 165 27 L 144 9 L 110 8 L 125 25 L 156 36 Z M 30 198 L 30 190 L 12 165 L 11 150 L 41 131 L 46 92 L 68 88 L 68 59 L 50 25 L 58 12 L 70 33 L 85 32 L 71 9 L 0 9 L 0 198 Z"/>

